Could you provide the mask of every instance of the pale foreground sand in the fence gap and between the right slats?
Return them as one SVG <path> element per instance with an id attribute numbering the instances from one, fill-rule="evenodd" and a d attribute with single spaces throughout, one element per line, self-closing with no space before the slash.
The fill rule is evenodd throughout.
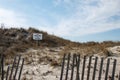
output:
<path id="1" fill-rule="evenodd" d="M 112 50 L 112 49 L 113 48 L 111 48 L 110 50 Z M 26 53 L 22 53 L 22 55 L 23 55 L 23 57 L 25 58 L 26 61 L 25 61 L 25 65 L 23 67 L 21 80 L 59 80 L 60 79 L 60 73 L 61 73 L 61 66 L 57 66 L 57 67 L 51 66 L 49 59 L 58 60 L 60 58 L 60 55 L 58 53 L 61 50 L 62 50 L 61 48 L 51 48 L 51 49 L 45 48 L 45 49 L 39 49 L 39 50 L 30 49 Z M 117 47 L 116 50 L 119 51 L 118 47 Z M 115 49 L 113 51 L 115 52 Z M 95 80 L 98 80 L 100 60 L 101 60 L 100 58 L 101 57 L 99 55 L 95 55 L 95 56 L 99 57 L 98 58 L 97 69 L 96 69 L 96 77 L 95 77 Z M 111 56 L 111 57 L 107 57 L 107 58 L 110 58 L 110 62 L 111 62 L 110 63 L 110 68 L 109 68 L 109 73 L 108 73 L 108 78 L 112 74 L 113 61 L 114 61 L 114 59 L 117 59 L 115 80 L 118 80 L 118 74 L 119 74 L 119 71 L 120 71 L 120 68 L 119 68 L 120 57 Z M 104 80 L 104 78 L 105 78 L 107 58 L 104 59 L 104 65 L 103 65 L 102 77 L 101 77 L 102 79 L 101 80 Z M 41 60 L 41 59 L 44 60 L 44 61 L 40 62 L 39 60 Z M 48 59 L 48 60 L 46 60 L 46 59 Z M 92 80 L 94 61 L 95 60 L 93 58 L 89 80 Z M 79 70 L 80 78 L 81 78 L 81 74 L 82 74 L 82 65 L 83 65 L 82 63 L 83 63 L 83 59 L 81 59 L 80 70 Z M 87 57 L 84 80 L 86 80 L 86 77 L 87 77 L 88 63 L 89 63 L 89 60 L 88 60 L 88 57 Z M 73 80 L 75 80 L 75 77 L 76 77 L 75 73 L 76 73 L 76 69 L 75 69 L 75 72 L 74 72 L 74 79 Z M 70 75 L 71 75 L 71 68 L 69 70 L 68 80 L 70 80 Z M 63 80 L 64 80 L 64 78 L 65 78 L 65 73 L 64 73 Z"/>

